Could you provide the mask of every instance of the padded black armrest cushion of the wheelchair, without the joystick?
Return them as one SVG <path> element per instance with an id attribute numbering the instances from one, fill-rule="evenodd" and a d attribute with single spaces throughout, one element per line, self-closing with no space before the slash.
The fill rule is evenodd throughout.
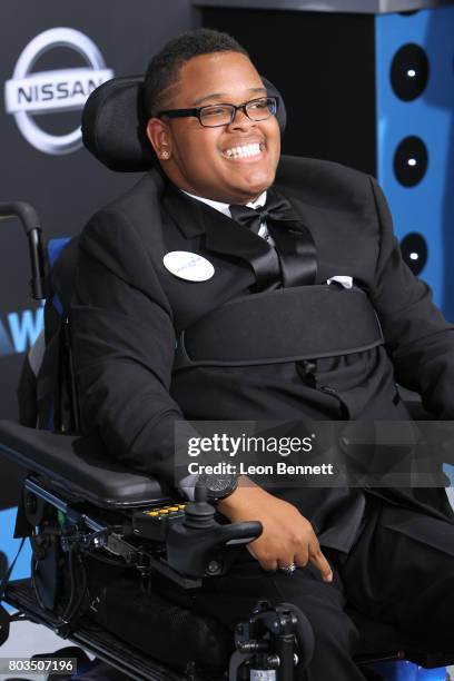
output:
<path id="1" fill-rule="evenodd" d="M 56 435 L 0 421 L 0 452 L 60 490 L 101 509 L 168 500 L 160 483 L 117 463 L 95 435 Z"/>

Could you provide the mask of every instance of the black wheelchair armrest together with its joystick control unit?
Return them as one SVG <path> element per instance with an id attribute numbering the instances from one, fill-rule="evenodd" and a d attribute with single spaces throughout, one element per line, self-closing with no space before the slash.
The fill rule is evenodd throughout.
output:
<path id="1" fill-rule="evenodd" d="M 95 435 L 56 435 L 0 421 L 0 453 L 34 474 L 38 480 L 29 476 L 26 487 L 28 485 L 29 491 L 51 505 L 59 507 L 56 500 L 61 501 L 59 497 L 69 496 L 71 504 L 77 502 L 87 506 L 87 503 L 91 503 L 98 509 L 110 511 L 134 509 L 135 512 L 128 514 L 129 522 L 119 531 L 109 529 L 106 519 L 100 525 L 97 516 L 90 516 L 90 511 L 81 513 L 72 507 L 68 517 L 69 522 L 87 525 L 88 534 L 91 534 L 96 523 L 99 532 L 103 533 L 102 540 L 98 537 L 99 545 L 103 546 L 102 542 L 107 541 L 107 547 L 116 555 L 125 557 L 128 564 L 131 563 L 137 549 L 130 544 L 130 536 L 165 544 L 167 561 L 161 555 L 155 556 L 150 550 L 147 553 L 149 566 L 182 585 L 190 582 L 189 585 L 194 586 L 194 579 L 206 574 L 210 561 L 213 564 L 209 574 L 221 573 L 228 566 L 235 550 L 253 541 L 261 532 L 259 523 L 220 525 L 214 520 L 215 509 L 201 499 L 189 504 L 188 517 L 186 510 L 181 515 L 178 509 L 172 509 L 176 513 L 168 516 L 168 523 L 164 522 L 159 515 L 160 511 L 156 509 L 161 504 L 168 506 L 171 500 L 168 492 L 164 491 L 155 478 L 131 472 L 112 461 Z M 50 495 L 53 492 L 53 499 L 49 492 Z M 197 497 L 200 493 L 197 491 Z M 154 506 L 154 513 L 149 513 L 147 506 Z M 168 513 L 168 509 L 161 513 Z M 167 515 L 164 517 L 167 519 Z M 185 522 L 181 522 L 182 517 Z M 32 524 L 37 524 L 34 520 Z M 88 535 L 82 534 L 79 527 L 75 536 L 75 541 L 83 544 Z M 224 559 L 226 549 L 231 551 L 227 551 L 228 556 Z M 142 561 L 144 550 L 140 549 L 138 553 Z M 213 556 L 217 559 L 216 570 Z M 142 564 L 141 569 L 144 570 Z"/>

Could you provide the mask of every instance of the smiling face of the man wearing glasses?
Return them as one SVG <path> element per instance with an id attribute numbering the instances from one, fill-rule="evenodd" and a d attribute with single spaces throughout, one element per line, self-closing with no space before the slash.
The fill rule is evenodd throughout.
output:
<path id="1" fill-rule="evenodd" d="M 168 95 L 166 109 L 189 109 L 240 105 L 266 89 L 245 55 L 213 52 L 187 61 Z M 234 122 L 218 128 L 205 128 L 196 117 L 151 118 L 147 134 L 168 178 L 189 194 L 247 204 L 274 181 L 280 155 L 274 116 L 253 121 L 237 111 Z"/>

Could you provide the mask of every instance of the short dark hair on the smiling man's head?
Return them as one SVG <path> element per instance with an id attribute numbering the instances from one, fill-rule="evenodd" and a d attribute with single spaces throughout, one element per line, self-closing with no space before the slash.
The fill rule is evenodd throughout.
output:
<path id="1" fill-rule="evenodd" d="M 155 55 L 145 75 L 144 103 L 147 116 L 156 116 L 162 110 L 162 93 L 177 80 L 180 68 L 189 59 L 211 52 L 240 52 L 249 57 L 235 38 L 206 28 L 174 38 Z"/>

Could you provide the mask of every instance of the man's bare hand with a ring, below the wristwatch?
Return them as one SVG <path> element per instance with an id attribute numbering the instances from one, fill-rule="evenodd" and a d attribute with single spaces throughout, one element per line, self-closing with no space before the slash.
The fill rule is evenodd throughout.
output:
<path id="1" fill-rule="evenodd" d="M 237 490 L 219 502 L 218 510 L 233 523 L 260 521 L 264 531 L 247 549 L 264 570 L 277 570 L 295 563 L 310 562 L 324 582 L 333 571 L 324 556 L 309 521 L 295 506 L 273 496 L 251 481 L 240 478 Z"/>

